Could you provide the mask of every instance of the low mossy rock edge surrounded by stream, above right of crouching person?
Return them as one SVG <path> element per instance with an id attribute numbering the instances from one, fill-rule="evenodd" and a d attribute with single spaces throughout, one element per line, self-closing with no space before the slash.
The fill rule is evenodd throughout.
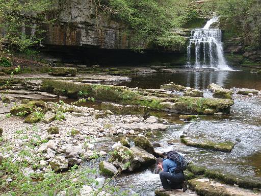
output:
<path id="1" fill-rule="evenodd" d="M 188 146 L 193 146 L 202 149 L 209 149 L 214 151 L 222 151 L 227 153 L 230 153 L 234 148 L 234 143 L 231 141 L 213 142 L 207 139 L 194 141 L 192 138 L 185 137 L 184 135 L 180 136 L 180 141 Z"/>

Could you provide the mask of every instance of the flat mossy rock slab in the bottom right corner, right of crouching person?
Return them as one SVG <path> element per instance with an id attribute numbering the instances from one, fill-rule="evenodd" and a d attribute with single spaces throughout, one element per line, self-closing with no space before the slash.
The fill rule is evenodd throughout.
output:
<path id="1" fill-rule="evenodd" d="M 207 178 L 192 179 L 188 181 L 188 185 L 192 190 L 195 190 L 199 195 L 216 196 L 216 195 L 231 195 L 231 196 L 256 196 L 261 195 L 260 192 L 253 192 L 249 189 L 239 188 L 232 185 L 221 184 L 218 181 Z"/>

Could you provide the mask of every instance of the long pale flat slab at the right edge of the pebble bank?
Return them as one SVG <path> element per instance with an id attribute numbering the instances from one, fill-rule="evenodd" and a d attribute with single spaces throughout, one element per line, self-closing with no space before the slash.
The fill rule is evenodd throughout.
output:
<path id="1" fill-rule="evenodd" d="M 168 125 L 163 125 L 159 123 L 153 124 L 145 124 L 143 122 L 124 124 L 119 123 L 119 127 L 122 127 L 125 130 L 134 130 L 134 131 L 166 131 L 168 129 Z"/>

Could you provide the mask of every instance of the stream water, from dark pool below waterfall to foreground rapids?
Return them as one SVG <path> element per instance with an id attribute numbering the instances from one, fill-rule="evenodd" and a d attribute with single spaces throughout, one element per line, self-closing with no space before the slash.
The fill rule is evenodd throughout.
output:
<path id="1" fill-rule="evenodd" d="M 132 79 L 120 85 L 160 88 L 161 84 L 174 82 L 203 90 L 204 97 L 212 96 L 211 92 L 206 91 L 210 83 L 219 84 L 224 88 L 261 89 L 261 76 L 250 74 L 249 70 L 137 75 Z M 155 137 L 149 139 L 161 144 L 161 147 L 156 148 L 157 150 L 166 152 L 175 149 L 199 166 L 261 180 L 261 102 L 255 97 L 237 97 L 234 103 L 230 115 L 204 116 L 191 123 L 179 120 L 177 114 L 152 112 L 151 115 L 167 119 L 171 127 L 166 132 L 154 132 Z M 201 137 L 215 138 L 215 140 L 225 138 L 237 144 L 231 153 L 189 147 L 179 140 L 179 136 L 188 130 Z M 117 138 L 114 140 L 118 141 Z M 161 187 L 161 182 L 159 175 L 153 174 L 152 171 L 153 168 L 121 175 L 114 180 L 113 185 L 144 196 L 154 195 L 154 190 Z"/>

